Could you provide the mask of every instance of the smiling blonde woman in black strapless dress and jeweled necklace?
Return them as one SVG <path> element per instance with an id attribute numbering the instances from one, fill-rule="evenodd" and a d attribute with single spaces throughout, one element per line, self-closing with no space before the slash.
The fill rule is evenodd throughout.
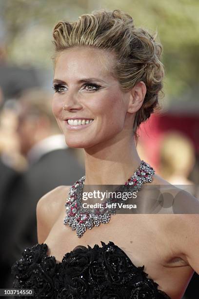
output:
<path id="1" fill-rule="evenodd" d="M 13 287 L 33 288 L 35 298 L 179 299 L 199 272 L 198 215 L 95 210 L 94 219 L 80 198 L 86 185 L 168 185 L 136 150 L 162 89 L 161 45 L 119 10 L 60 21 L 53 36 L 52 109 L 66 144 L 84 149 L 85 177 L 40 199 L 39 244 L 13 265 Z"/>

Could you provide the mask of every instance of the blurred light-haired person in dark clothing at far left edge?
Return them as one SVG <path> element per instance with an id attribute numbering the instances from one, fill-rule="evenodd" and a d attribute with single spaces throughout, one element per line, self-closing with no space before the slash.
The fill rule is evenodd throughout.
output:
<path id="1" fill-rule="evenodd" d="M 0 288 L 5 286 L 6 278 L 10 275 L 10 256 L 11 243 L 8 242 L 9 231 L 5 230 L 3 222 L 7 211 L 10 211 L 10 191 L 17 184 L 20 178 L 20 171 L 26 166 L 25 159 L 19 152 L 19 139 L 16 134 L 17 116 L 16 111 L 4 104 L 0 110 Z M 12 204 L 12 209 L 17 211 L 17 207 Z M 15 221 L 16 213 L 13 213 L 12 219 Z M 7 229 L 9 230 L 9 225 Z M 19 236 L 20 223 L 15 229 L 12 242 Z M 8 245 L 8 246 L 7 246 Z M 13 257 L 14 258 L 14 257 Z M 8 285 L 9 286 L 9 285 Z"/>

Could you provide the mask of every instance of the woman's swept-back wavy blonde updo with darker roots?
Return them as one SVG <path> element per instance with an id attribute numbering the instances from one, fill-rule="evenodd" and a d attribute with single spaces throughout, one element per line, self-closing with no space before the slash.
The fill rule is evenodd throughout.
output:
<path id="1" fill-rule="evenodd" d="M 155 108 L 159 108 L 164 76 L 160 62 L 162 46 L 143 28 L 136 28 L 133 19 L 120 10 L 113 12 L 101 9 L 82 15 L 77 21 L 60 21 L 53 29 L 53 43 L 58 53 L 73 46 L 92 46 L 106 49 L 117 57 L 114 74 L 121 89 L 129 90 L 137 82 L 146 85 L 142 107 L 137 111 L 133 131 L 147 120 Z M 54 58 L 55 58 L 54 57 Z"/>

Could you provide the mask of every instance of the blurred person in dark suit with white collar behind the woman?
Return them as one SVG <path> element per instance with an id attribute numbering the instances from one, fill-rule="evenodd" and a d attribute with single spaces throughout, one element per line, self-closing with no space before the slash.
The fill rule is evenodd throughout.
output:
<path id="1" fill-rule="evenodd" d="M 71 184 L 84 173 L 80 151 L 68 148 L 60 134 L 51 98 L 41 89 L 30 89 L 18 100 L 16 133 L 27 169 L 10 185 L 0 219 L 5 269 L 1 287 L 10 286 L 10 266 L 21 249 L 37 242 L 36 205 L 40 197 L 52 188 Z"/>

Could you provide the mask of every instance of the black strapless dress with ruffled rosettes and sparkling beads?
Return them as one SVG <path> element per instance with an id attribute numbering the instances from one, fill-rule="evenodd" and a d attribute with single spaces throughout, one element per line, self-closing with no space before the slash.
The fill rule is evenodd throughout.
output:
<path id="1" fill-rule="evenodd" d="M 13 288 L 34 289 L 37 299 L 170 299 L 144 265 L 136 267 L 111 241 L 101 244 L 77 246 L 59 263 L 45 243 L 26 248 L 11 269 Z"/>

